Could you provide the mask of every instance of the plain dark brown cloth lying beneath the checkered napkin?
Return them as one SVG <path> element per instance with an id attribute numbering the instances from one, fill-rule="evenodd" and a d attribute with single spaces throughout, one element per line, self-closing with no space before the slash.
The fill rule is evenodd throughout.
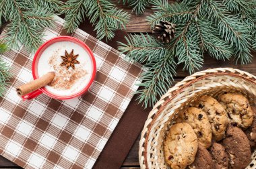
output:
<path id="1" fill-rule="evenodd" d="M 88 20 L 84 21 L 79 28 L 96 37 L 96 32 L 93 31 L 94 27 L 92 27 Z M 117 49 L 117 42 L 125 43 L 125 36 L 127 36 L 126 32 L 118 30 L 113 40 L 108 42 L 106 40 L 102 41 Z M 95 169 L 115 169 L 122 166 L 151 110 L 150 108 L 143 109 L 142 105 L 138 105 L 135 99 L 136 95 L 131 100 L 115 131 L 110 136 L 110 139 L 108 139 L 106 146 L 94 164 Z"/>

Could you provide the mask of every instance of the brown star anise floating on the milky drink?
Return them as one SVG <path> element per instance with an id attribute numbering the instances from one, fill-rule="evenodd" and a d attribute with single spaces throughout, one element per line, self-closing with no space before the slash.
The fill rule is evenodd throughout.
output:
<path id="1" fill-rule="evenodd" d="M 74 50 L 72 49 L 71 53 L 68 54 L 67 50 L 65 50 L 65 56 L 61 56 L 61 58 L 63 59 L 63 62 L 61 63 L 61 66 L 65 65 L 67 69 L 69 69 L 69 67 L 71 66 L 74 69 L 75 64 L 80 63 L 78 60 L 76 60 L 76 58 L 78 57 L 78 54 L 76 54 L 74 56 L 73 52 L 74 52 Z"/>

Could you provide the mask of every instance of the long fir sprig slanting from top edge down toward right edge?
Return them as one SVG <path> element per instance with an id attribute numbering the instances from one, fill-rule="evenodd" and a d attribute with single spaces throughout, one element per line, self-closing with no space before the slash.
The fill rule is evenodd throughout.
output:
<path id="1" fill-rule="evenodd" d="M 233 46 L 236 62 L 239 60 L 242 64 L 248 64 L 252 60 L 251 50 L 251 34 L 249 27 L 234 16 L 225 15 L 224 5 L 215 1 L 205 3 L 208 13 L 218 23 L 217 28 L 220 36 Z"/>

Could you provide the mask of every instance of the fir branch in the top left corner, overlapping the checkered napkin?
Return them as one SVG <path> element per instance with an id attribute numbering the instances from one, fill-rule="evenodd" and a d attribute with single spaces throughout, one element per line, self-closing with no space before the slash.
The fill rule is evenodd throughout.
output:
<path id="1" fill-rule="evenodd" d="M 24 45 L 30 52 L 36 51 L 42 44 L 44 29 L 53 23 L 59 4 L 57 0 L 0 1 L 0 17 L 10 22 L 6 27 L 7 45 L 10 48 Z"/>

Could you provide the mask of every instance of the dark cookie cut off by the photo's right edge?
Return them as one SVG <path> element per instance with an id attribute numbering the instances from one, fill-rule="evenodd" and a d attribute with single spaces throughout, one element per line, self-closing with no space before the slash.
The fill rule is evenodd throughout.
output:
<path id="1" fill-rule="evenodd" d="M 251 107 L 253 110 L 253 123 L 251 126 L 245 131 L 247 138 L 249 139 L 249 144 L 251 149 L 256 148 L 256 107 Z"/>

